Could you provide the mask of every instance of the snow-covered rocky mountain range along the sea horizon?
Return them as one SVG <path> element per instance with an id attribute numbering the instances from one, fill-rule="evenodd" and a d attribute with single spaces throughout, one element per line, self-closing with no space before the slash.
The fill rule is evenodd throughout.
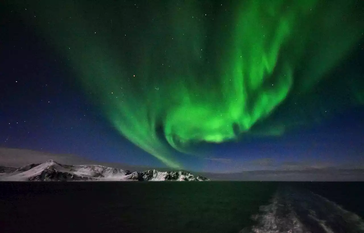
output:
<path id="1" fill-rule="evenodd" d="M 53 160 L 3 169 L 1 181 L 205 181 L 187 171 L 130 172 L 100 165 L 62 165 Z"/>

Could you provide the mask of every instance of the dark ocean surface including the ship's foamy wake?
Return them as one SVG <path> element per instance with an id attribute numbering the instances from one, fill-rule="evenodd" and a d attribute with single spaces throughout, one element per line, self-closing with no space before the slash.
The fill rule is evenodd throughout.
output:
<path id="1" fill-rule="evenodd" d="M 0 182 L 0 232 L 359 233 L 363 182 Z"/>

